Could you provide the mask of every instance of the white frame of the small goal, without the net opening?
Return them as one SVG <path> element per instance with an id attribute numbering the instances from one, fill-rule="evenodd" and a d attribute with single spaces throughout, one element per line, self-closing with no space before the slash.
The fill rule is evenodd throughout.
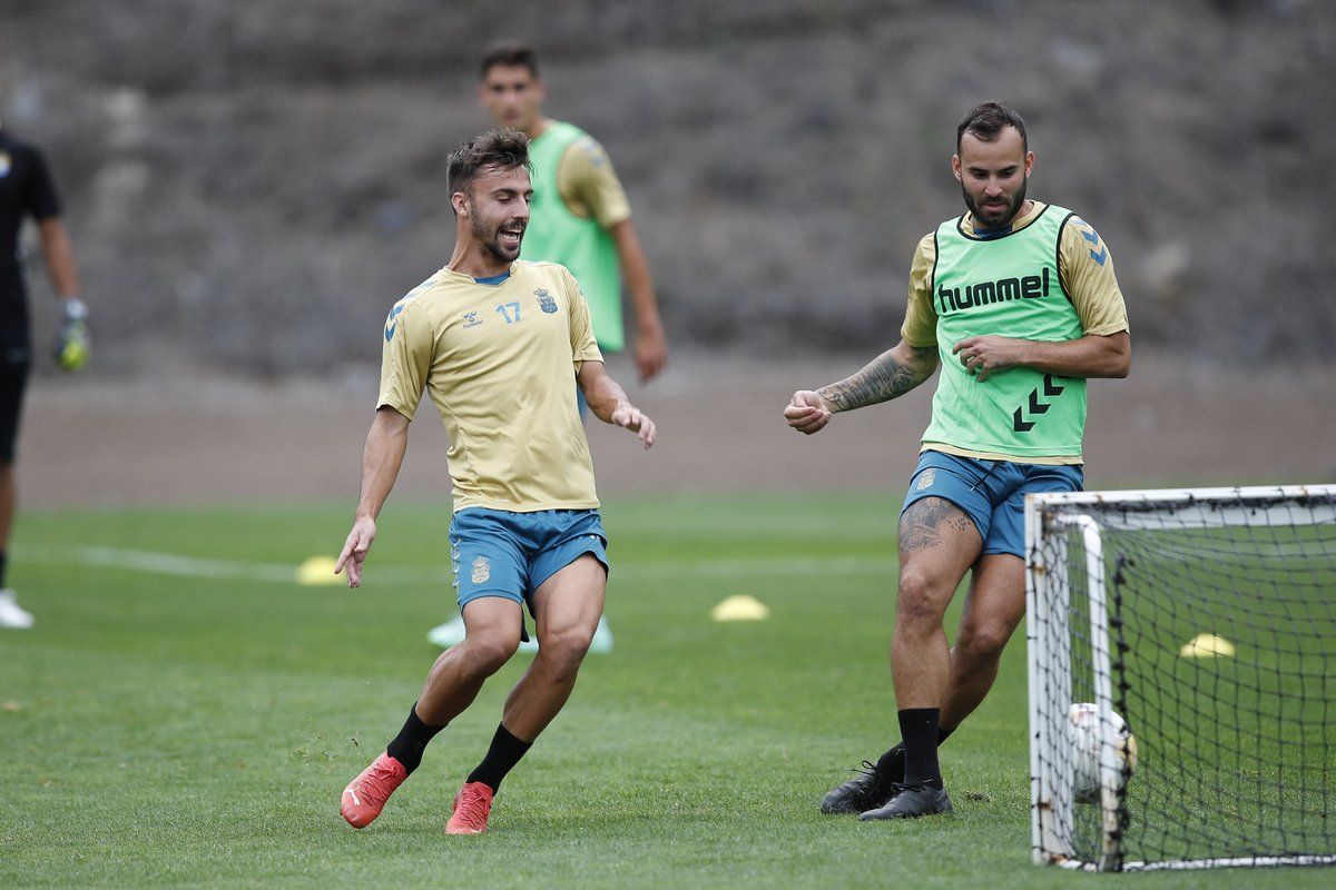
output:
<path id="1" fill-rule="evenodd" d="M 1086 590 L 1089 595 L 1089 623 L 1092 667 L 1094 669 L 1094 705 L 1100 714 L 1113 710 L 1113 677 L 1110 669 L 1110 639 L 1108 615 L 1108 574 L 1104 562 L 1102 528 L 1097 519 L 1100 510 L 1116 508 L 1124 527 L 1157 527 L 1150 519 L 1157 510 L 1172 508 L 1180 528 L 1213 528 L 1238 524 L 1242 520 L 1265 519 L 1271 511 L 1285 510 L 1284 519 L 1293 524 L 1296 516 L 1289 507 L 1304 500 L 1317 500 L 1304 524 L 1336 523 L 1336 486 L 1257 486 L 1234 488 L 1140 488 L 1124 491 L 1075 491 L 1031 494 L 1025 498 L 1025 598 L 1026 598 L 1026 662 L 1030 693 L 1030 821 L 1031 847 L 1037 865 L 1059 865 L 1086 871 L 1149 871 L 1180 869 L 1210 869 L 1225 866 L 1287 866 L 1336 865 L 1336 855 L 1280 855 L 1245 858 L 1202 858 L 1165 862 L 1125 862 L 1122 835 L 1118 825 L 1118 797 L 1121 769 L 1117 753 L 1118 739 L 1108 719 L 1100 726 L 1100 853 L 1096 861 L 1082 859 L 1069 839 L 1073 837 L 1074 803 L 1069 777 L 1059 777 L 1053 758 L 1042 753 L 1055 745 L 1065 745 L 1066 707 L 1049 709 L 1045 715 L 1045 679 L 1049 699 L 1070 702 L 1071 652 L 1070 643 L 1059 643 L 1059 651 L 1049 651 L 1046 632 L 1041 627 L 1058 623 L 1053 634 L 1059 640 L 1070 640 L 1066 622 L 1070 616 L 1071 587 L 1066 560 L 1049 566 L 1041 542 L 1050 528 L 1058 534 L 1074 527 L 1081 534 L 1085 548 Z M 1063 508 L 1061 512 L 1058 508 Z M 1082 511 L 1081 507 L 1090 510 Z M 1073 510 L 1074 508 L 1074 510 Z M 1065 651 L 1061 651 L 1063 650 Z M 1057 690 L 1053 691 L 1053 677 Z"/>

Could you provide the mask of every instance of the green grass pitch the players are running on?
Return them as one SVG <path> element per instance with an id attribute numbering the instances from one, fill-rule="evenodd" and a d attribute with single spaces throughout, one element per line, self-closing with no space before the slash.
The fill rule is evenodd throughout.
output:
<path id="1" fill-rule="evenodd" d="M 895 735 L 895 510 L 891 495 L 608 504 L 616 650 L 591 655 L 476 838 L 442 829 L 524 655 L 375 825 L 338 815 L 436 656 L 426 630 L 454 611 L 444 510 L 391 503 L 357 592 L 285 568 L 331 555 L 349 507 L 24 515 L 11 580 L 39 624 L 0 634 L 0 886 L 1329 886 L 1329 869 L 1033 866 L 1019 638 L 943 747 L 954 817 L 819 815 Z M 164 574 L 187 568 L 212 576 Z M 711 622 L 732 594 L 771 618 Z"/>

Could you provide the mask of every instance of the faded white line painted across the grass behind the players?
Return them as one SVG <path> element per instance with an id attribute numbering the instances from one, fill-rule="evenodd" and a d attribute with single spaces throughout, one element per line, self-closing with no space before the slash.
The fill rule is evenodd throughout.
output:
<path id="1" fill-rule="evenodd" d="M 297 583 L 297 566 L 282 563 L 242 562 L 235 559 L 207 559 L 182 556 L 151 550 L 130 550 L 123 547 L 55 547 L 49 544 L 21 544 L 15 548 L 19 559 L 43 563 L 73 563 L 96 568 L 122 568 L 154 575 L 175 575 L 178 578 L 207 578 L 211 580 L 266 580 L 277 583 Z M 898 562 L 894 556 L 835 556 L 819 559 L 796 558 L 752 558 L 752 559 L 693 559 L 683 562 L 613 562 L 616 578 L 661 579 L 680 575 L 705 575 L 711 578 L 749 578 L 755 575 L 858 575 L 894 572 Z M 426 584 L 449 583 L 446 568 L 406 568 L 369 564 L 367 586 L 374 584 Z"/>

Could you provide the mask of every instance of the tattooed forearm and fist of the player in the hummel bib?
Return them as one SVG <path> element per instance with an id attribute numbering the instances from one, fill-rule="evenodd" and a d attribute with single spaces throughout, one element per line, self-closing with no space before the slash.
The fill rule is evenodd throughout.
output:
<path id="1" fill-rule="evenodd" d="M 784 419 L 799 432 L 811 435 L 830 423 L 838 411 L 852 411 L 899 398 L 933 376 L 935 370 L 935 346 L 910 346 L 900 340 L 895 348 L 876 356 L 862 371 L 839 383 L 823 386 L 815 392 L 795 392 L 784 408 Z"/>

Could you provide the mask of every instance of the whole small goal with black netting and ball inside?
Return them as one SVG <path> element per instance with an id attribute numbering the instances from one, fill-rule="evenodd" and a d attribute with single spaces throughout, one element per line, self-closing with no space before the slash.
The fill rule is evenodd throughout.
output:
<path id="1" fill-rule="evenodd" d="M 1336 863 L 1336 486 L 1026 499 L 1035 862 Z"/>

